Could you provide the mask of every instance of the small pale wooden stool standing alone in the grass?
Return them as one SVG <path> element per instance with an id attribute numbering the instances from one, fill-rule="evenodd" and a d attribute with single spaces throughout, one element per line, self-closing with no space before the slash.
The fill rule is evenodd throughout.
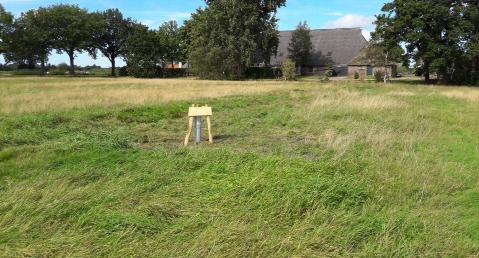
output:
<path id="1" fill-rule="evenodd" d="M 188 142 L 190 141 L 193 124 L 196 129 L 195 142 L 196 144 L 201 142 L 201 118 L 204 116 L 206 117 L 208 124 L 208 139 L 210 144 L 213 143 L 213 134 L 211 133 L 211 117 L 213 116 L 213 109 L 208 107 L 208 105 L 200 107 L 200 105 L 193 104 L 188 110 L 188 132 L 186 133 L 185 137 L 185 146 L 188 146 Z"/>

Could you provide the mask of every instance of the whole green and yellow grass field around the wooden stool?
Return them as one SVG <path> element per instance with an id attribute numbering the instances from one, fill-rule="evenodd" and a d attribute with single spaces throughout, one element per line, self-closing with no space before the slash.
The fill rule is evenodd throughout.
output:
<path id="1" fill-rule="evenodd" d="M 479 89 L 0 78 L 0 256 L 479 256 L 478 214 Z"/>

